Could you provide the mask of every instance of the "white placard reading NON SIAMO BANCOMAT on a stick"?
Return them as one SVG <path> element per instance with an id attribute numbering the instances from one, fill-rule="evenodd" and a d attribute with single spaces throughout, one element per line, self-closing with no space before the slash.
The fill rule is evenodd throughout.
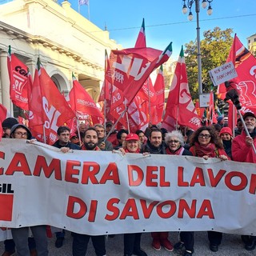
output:
<path id="1" fill-rule="evenodd" d="M 214 83 L 214 86 L 218 86 L 221 83 L 229 81 L 238 76 L 233 62 L 226 62 L 222 66 L 218 66 L 213 70 L 210 70 L 209 74 L 211 81 Z"/>

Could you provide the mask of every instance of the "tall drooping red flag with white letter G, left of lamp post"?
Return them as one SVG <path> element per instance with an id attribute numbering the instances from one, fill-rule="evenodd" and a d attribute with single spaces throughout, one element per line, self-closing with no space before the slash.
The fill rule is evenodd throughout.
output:
<path id="1" fill-rule="evenodd" d="M 175 130 L 176 124 L 197 130 L 201 126 L 200 119 L 192 101 L 186 75 L 186 63 L 183 47 L 174 71 L 174 78 L 166 103 L 166 114 L 162 127 Z"/>

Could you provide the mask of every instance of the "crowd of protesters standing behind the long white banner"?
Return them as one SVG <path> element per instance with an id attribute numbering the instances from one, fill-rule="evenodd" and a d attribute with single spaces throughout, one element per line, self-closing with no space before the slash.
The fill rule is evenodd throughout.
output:
<path id="1" fill-rule="evenodd" d="M 238 119 L 234 132 L 227 127 L 226 118 L 218 118 L 218 124 L 202 126 L 198 130 L 190 130 L 188 127 L 178 127 L 177 130 L 168 131 L 158 126 L 151 125 L 145 130 L 137 130 L 129 133 L 126 129 L 115 130 L 114 124 L 106 122 L 106 126 L 97 124 L 88 127 L 84 123 L 79 126 L 77 133 L 70 133 L 67 126 L 58 127 L 58 141 L 54 145 L 63 153 L 69 150 L 103 150 L 135 154 L 170 154 L 190 155 L 204 159 L 220 158 L 222 161 L 238 161 L 256 163 L 256 154 L 253 145 L 256 146 L 256 116 L 252 112 L 243 115 L 245 127 L 242 120 Z M 2 138 L 18 138 L 31 140 L 28 127 L 18 124 L 15 118 L 6 118 L 2 122 Z M 249 134 L 246 134 L 245 129 Z M 32 141 L 33 142 L 33 139 Z M 29 238 L 29 228 L 33 238 Z M 6 240 L 5 251 L 2 256 L 48 255 L 46 226 L 30 226 L 11 229 L 13 239 Z M 152 232 L 152 247 L 159 251 L 162 248 L 168 251 L 184 250 L 184 256 L 194 254 L 194 232 L 182 231 L 180 241 L 172 244 L 168 237 L 169 232 Z M 142 234 L 124 234 L 123 255 L 146 256 L 141 249 L 140 241 Z M 105 236 L 91 236 L 87 234 L 72 234 L 74 256 L 85 256 L 87 244 L 91 239 L 95 254 L 104 256 L 107 254 Z M 222 242 L 222 233 L 208 231 L 210 250 L 218 251 Z M 56 247 L 62 247 L 65 239 L 64 230 L 56 233 Z M 256 246 L 255 236 L 242 236 L 246 250 L 254 250 Z"/>

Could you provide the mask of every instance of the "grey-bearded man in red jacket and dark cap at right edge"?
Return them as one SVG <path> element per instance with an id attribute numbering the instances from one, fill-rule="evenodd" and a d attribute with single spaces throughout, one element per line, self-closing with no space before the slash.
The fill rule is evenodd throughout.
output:
<path id="1" fill-rule="evenodd" d="M 247 136 L 245 130 L 242 130 L 242 133 L 234 138 L 231 146 L 232 157 L 234 161 L 256 163 L 256 154 L 254 152 L 256 147 L 256 116 L 253 112 L 246 112 L 242 118 L 246 123 L 250 136 Z M 255 249 L 256 236 L 242 236 L 242 240 L 246 243 L 246 250 Z"/>

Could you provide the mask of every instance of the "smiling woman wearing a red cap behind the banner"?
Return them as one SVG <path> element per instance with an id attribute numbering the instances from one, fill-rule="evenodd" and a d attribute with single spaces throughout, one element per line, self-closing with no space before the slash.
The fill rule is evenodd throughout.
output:
<path id="1" fill-rule="evenodd" d="M 141 142 L 137 134 L 128 134 L 125 141 L 122 142 L 122 148 L 119 150 L 122 154 L 139 153 Z M 142 233 L 124 234 L 124 255 L 147 256 L 146 252 L 141 250 Z"/>

